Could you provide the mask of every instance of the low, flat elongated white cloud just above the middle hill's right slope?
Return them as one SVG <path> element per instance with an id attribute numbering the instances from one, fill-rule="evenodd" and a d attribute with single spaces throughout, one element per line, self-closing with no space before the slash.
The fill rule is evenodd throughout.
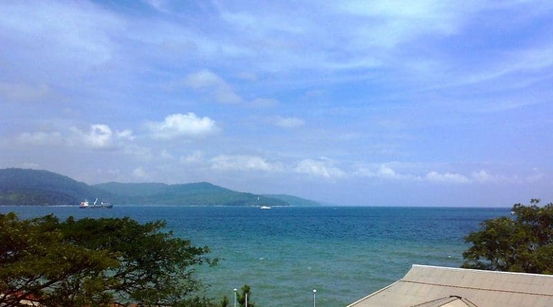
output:
<path id="1" fill-rule="evenodd" d="M 211 161 L 214 170 L 263 170 L 267 172 L 282 170 L 279 162 L 250 155 L 218 155 Z"/>

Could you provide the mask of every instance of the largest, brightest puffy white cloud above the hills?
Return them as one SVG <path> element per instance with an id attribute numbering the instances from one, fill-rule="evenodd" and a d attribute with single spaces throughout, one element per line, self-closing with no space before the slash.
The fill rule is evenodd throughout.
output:
<path id="1" fill-rule="evenodd" d="M 162 122 L 146 124 L 152 137 L 156 139 L 176 139 L 178 137 L 204 137 L 218 132 L 218 127 L 209 117 L 197 117 L 194 113 L 172 114 Z"/>

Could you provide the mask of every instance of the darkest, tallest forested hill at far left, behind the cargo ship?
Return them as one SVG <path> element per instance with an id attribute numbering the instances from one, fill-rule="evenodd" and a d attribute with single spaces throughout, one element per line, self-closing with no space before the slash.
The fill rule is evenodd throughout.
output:
<path id="1" fill-rule="evenodd" d="M 0 170 L 0 205 L 78 205 L 95 196 L 111 195 L 47 170 Z"/>

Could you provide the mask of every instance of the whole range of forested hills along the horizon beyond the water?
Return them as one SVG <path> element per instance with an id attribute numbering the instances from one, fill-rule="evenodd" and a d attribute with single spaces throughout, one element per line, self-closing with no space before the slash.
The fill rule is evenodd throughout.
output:
<path id="1" fill-rule="evenodd" d="M 111 204 L 186 206 L 317 206 L 318 203 L 290 195 L 255 195 L 221 186 L 196 184 L 122 184 L 109 182 L 88 186 L 47 170 L 0 169 L 0 206 L 78 205 L 100 197 Z"/>

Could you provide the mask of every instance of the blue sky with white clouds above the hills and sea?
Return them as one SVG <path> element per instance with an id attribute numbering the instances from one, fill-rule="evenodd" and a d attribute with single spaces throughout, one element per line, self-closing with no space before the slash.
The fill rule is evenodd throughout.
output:
<path id="1" fill-rule="evenodd" d="M 553 201 L 553 1 L 1 1 L 0 168 Z"/>

